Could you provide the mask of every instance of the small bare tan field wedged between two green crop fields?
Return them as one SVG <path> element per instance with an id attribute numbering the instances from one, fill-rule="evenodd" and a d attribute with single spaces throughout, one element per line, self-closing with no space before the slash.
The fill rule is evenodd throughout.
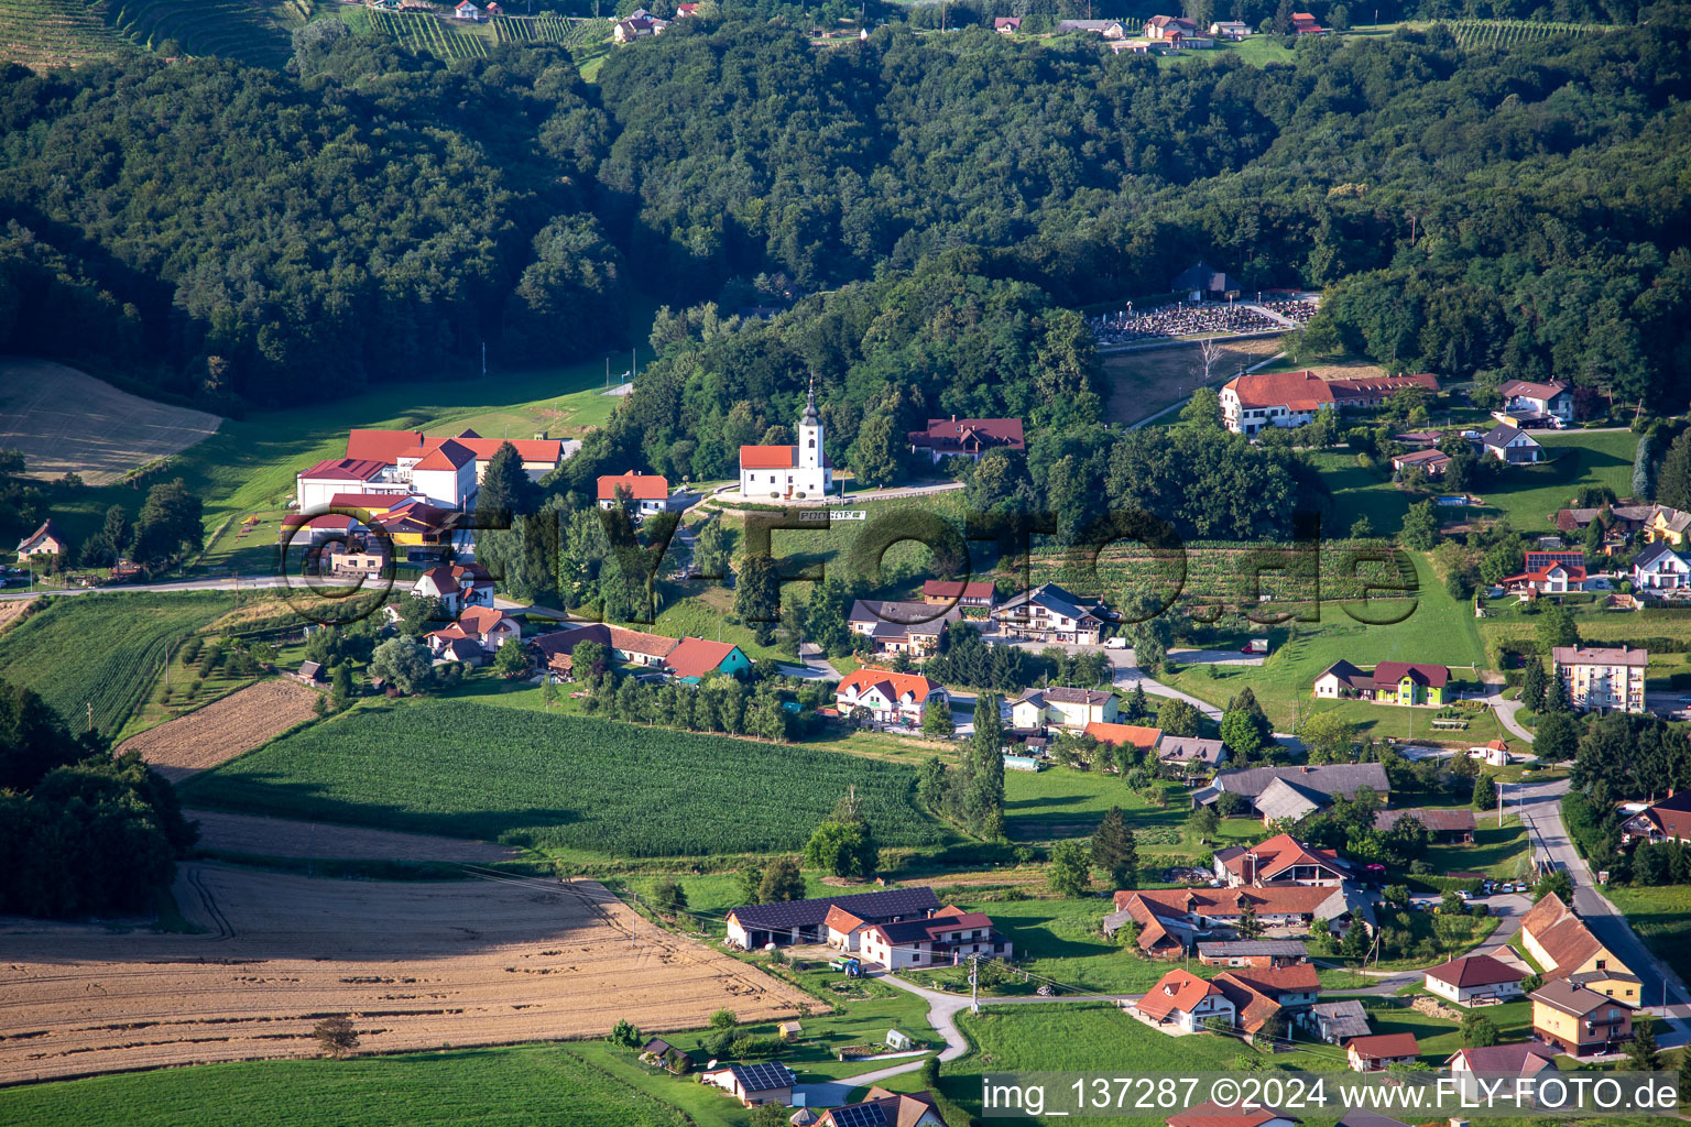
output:
<path id="1" fill-rule="evenodd" d="M 205 708 L 123 740 L 161 776 L 183 779 L 262 747 L 311 720 L 318 693 L 298 681 L 259 681 Z"/>

